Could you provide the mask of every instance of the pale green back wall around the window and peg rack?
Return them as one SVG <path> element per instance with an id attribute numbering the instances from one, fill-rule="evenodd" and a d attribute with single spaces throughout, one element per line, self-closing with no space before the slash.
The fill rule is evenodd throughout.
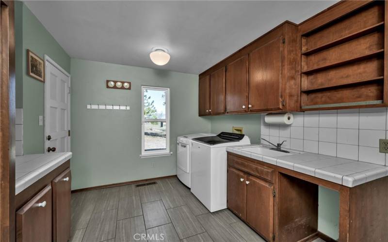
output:
<path id="1" fill-rule="evenodd" d="M 131 90 L 107 89 L 107 79 L 130 81 Z M 170 88 L 171 156 L 139 157 L 142 85 Z M 129 105 L 130 111 L 88 104 Z M 177 136 L 210 132 L 197 104 L 197 75 L 71 59 L 72 189 L 176 174 Z"/>

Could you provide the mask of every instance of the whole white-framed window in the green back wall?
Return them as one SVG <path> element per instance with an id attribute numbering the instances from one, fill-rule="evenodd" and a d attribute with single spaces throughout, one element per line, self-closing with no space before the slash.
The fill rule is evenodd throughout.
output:
<path id="1" fill-rule="evenodd" d="M 170 89 L 142 87 L 141 157 L 170 155 Z"/>

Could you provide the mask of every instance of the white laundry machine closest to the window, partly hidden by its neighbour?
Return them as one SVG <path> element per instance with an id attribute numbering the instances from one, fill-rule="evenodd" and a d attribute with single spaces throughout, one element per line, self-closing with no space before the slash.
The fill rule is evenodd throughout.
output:
<path id="1" fill-rule="evenodd" d="M 210 133 L 191 134 L 177 137 L 177 176 L 188 187 L 191 187 L 190 181 L 190 151 L 191 140 L 193 138 L 215 136 Z"/>

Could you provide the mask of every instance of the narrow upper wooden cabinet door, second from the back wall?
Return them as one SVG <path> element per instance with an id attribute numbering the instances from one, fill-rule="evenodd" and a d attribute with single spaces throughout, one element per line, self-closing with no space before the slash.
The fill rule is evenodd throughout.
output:
<path id="1" fill-rule="evenodd" d="M 210 74 L 210 114 L 225 113 L 225 67 Z"/>

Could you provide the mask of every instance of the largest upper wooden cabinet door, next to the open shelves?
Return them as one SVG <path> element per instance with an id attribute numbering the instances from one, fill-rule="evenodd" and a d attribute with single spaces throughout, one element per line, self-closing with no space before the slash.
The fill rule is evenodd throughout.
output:
<path id="1" fill-rule="evenodd" d="M 249 54 L 249 111 L 282 108 L 283 37 Z"/>

